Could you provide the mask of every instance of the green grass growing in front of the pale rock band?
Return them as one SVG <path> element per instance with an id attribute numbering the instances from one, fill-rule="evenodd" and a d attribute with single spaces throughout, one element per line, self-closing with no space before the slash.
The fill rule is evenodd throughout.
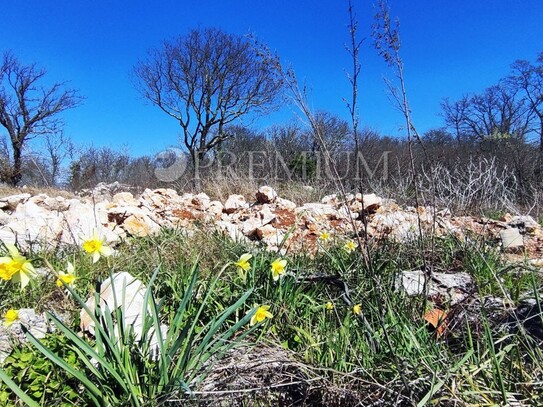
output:
<path id="1" fill-rule="evenodd" d="M 513 399 L 532 405 L 543 402 L 539 396 L 543 390 L 543 355 L 540 344 L 526 332 L 498 329 L 483 309 L 477 324 L 460 321 L 456 332 L 440 337 L 422 318 L 425 301 L 406 297 L 395 289 L 398 273 L 420 269 L 423 254 L 434 271 L 470 274 L 476 288 L 473 299 L 497 296 L 516 302 L 526 294 L 539 298 L 541 276 L 527 265 L 506 264 L 488 242 L 453 237 L 436 238 L 433 245 L 426 242 L 422 247 L 417 242 L 380 242 L 368 248 L 368 263 L 358 252 L 346 253 L 340 242 L 332 241 L 323 244 L 315 256 L 281 256 L 288 266 L 279 281 L 272 279 L 270 271 L 277 254 L 234 242 L 219 233 L 188 235 L 180 230 L 163 230 L 156 236 L 124 242 L 116 251 L 114 257 L 94 265 L 77 248 L 32 253 L 29 257 L 35 265 L 45 265 L 47 260 L 58 270 L 65 268 L 67 260 L 73 262 L 79 276 L 75 293 L 83 299 L 95 281 L 110 272 L 128 271 L 145 284 L 156 274 L 151 285 L 154 298 L 161 300 L 156 318 L 170 322 L 187 298 L 188 282 L 197 266 L 199 276 L 191 291 L 191 306 L 180 322 L 184 326 L 197 321 L 194 346 L 202 345 L 205 339 L 200 332 L 215 326 L 218 315 L 226 315 L 216 326 L 215 335 L 236 327 L 237 333 L 231 337 L 234 343 L 246 335 L 243 341 L 249 344 L 293 352 L 310 372 L 305 379 L 320 380 L 321 386 L 315 386 L 314 391 L 322 396 L 322 405 L 349 405 L 340 396 L 344 392 L 349 392 L 352 405 L 369 405 L 372 400 L 382 400 L 385 405 L 444 406 L 501 405 Z M 253 255 L 247 272 L 240 272 L 233 264 L 227 266 L 246 252 Z M 314 281 L 316 275 L 337 276 L 344 281 L 351 303 L 344 301 L 337 285 Z M 80 305 L 54 281 L 52 274 L 37 279 L 22 294 L 8 282 L 0 282 L 0 311 L 60 307 L 73 315 L 68 328 L 75 330 Z M 232 309 L 244 293 L 250 293 L 247 300 Z M 333 303 L 333 309 L 326 308 L 328 302 Z M 272 319 L 252 330 L 238 324 L 261 304 L 270 306 Z M 353 313 L 354 304 L 361 305 L 361 316 Z M 215 356 L 222 353 L 220 348 L 213 349 Z M 130 363 L 155 362 L 140 359 L 127 363 L 132 369 Z M 182 381 L 187 374 L 200 375 L 200 370 L 191 371 L 189 366 L 178 374 Z M 185 384 L 193 386 L 190 381 Z M 4 385 L 0 390 L 9 391 L 6 389 Z M 166 395 L 156 389 L 145 394 L 152 395 L 146 405 L 159 405 Z M 266 400 L 253 399 L 246 405 L 267 405 Z M 315 402 L 315 398 L 311 400 Z"/>

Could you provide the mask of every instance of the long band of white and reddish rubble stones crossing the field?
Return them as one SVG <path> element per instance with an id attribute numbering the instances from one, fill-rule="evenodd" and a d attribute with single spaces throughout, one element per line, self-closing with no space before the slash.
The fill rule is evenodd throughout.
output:
<path id="1" fill-rule="evenodd" d="M 112 193 L 100 186 L 87 196 L 65 198 L 22 193 L 0 198 L 0 239 L 20 247 L 80 244 L 93 229 L 115 244 L 130 236 L 146 236 L 163 227 L 223 231 L 234 239 L 261 242 L 269 250 L 314 250 L 323 232 L 332 239 L 353 239 L 367 230 L 368 239 L 399 241 L 423 233 L 484 237 L 509 252 L 543 265 L 543 229 L 530 216 L 505 215 L 500 220 L 452 216 L 431 207 L 400 207 L 374 194 L 324 197 L 296 205 L 263 186 L 247 200 L 231 195 L 225 202 L 206 194 L 179 195 L 172 189 Z M 364 228 L 364 221 L 367 228 Z M 362 232 L 359 232 L 362 235 Z"/>

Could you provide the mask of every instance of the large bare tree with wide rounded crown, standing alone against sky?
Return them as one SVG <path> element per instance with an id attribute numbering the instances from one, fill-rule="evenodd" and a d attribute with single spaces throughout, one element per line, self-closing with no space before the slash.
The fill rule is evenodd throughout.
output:
<path id="1" fill-rule="evenodd" d="M 135 67 L 143 97 L 183 129 L 195 174 L 205 154 L 228 138 L 228 123 L 273 106 L 282 81 L 270 55 L 249 38 L 208 28 L 165 41 Z"/>

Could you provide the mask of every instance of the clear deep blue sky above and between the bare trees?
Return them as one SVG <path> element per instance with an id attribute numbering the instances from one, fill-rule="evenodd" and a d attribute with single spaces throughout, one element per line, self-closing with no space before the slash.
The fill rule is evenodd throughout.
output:
<path id="1" fill-rule="evenodd" d="M 383 134 L 402 136 L 402 117 L 388 100 L 390 76 L 370 38 L 372 0 L 353 0 L 362 51 L 360 118 Z M 443 97 L 479 92 L 516 59 L 543 51 L 541 0 L 390 0 L 401 22 L 407 90 L 419 131 L 442 125 Z M 36 62 L 47 78 L 70 82 L 86 99 L 64 113 L 79 145 L 128 147 L 133 155 L 175 145 L 180 127 L 135 91 L 131 71 L 164 39 L 198 27 L 254 33 L 305 79 L 315 110 L 347 119 L 350 88 L 347 0 L 2 0 L 0 51 Z M 251 123 L 264 129 L 296 117 L 289 108 Z M 0 129 L 1 131 L 1 129 Z"/>

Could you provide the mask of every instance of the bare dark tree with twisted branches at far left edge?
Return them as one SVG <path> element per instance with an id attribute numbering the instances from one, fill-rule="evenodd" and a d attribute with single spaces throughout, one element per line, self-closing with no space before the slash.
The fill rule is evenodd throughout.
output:
<path id="1" fill-rule="evenodd" d="M 0 65 L 0 124 L 11 141 L 11 162 L 6 181 L 15 186 L 22 177 L 22 153 L 26 143 L 38 136 L 59 131 L 58 117 L 64 110 L 76 107 L 81 98 L 64 83 L 49 87 L 39 83 L 46 70 L 35 64 L 23 65 L 6 52 Z"/>

